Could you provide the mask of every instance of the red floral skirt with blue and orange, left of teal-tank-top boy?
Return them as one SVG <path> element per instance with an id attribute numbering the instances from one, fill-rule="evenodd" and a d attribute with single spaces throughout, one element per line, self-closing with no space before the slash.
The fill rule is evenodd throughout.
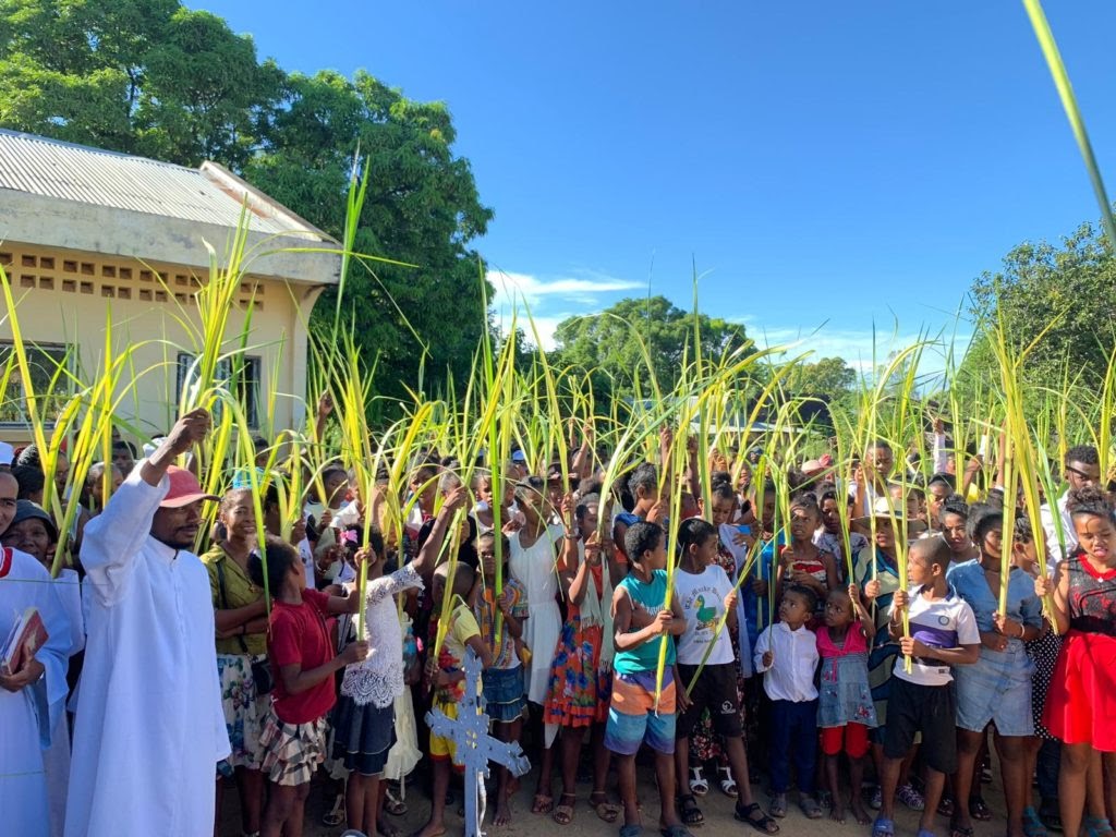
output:
<path id="1" fill-rule="evenodd" d="M 589 727 L 608 719 L 608 700 L 607 695 L 602 700 L 597 671 L 602 639 L 600 625 L 583 627 L 581 617 L 576 614 L 562 625 L 542 704 L 545 723 Z"/>

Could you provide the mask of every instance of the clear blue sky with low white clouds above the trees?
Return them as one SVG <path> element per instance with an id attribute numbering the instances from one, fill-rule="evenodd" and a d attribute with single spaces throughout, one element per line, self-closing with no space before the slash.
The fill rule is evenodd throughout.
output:
<path id="1" fill-rule="evenodd" d="M 1097 217 L 1018 0 L 187 2 L 288 70 L 448 103 L 479 249 L 545 331 L 689 307 L 696 267 L 706 312 L 858 364 L 873 324 L 952 330 L 1014 244 Z M 1116 180 L 1116 3 L 1047 6 Z"/>

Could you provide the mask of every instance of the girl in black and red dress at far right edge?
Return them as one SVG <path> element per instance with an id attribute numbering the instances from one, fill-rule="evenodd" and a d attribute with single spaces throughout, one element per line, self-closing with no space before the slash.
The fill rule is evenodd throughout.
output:
<path id="1" fill-rule="evenodd" d="M 1116 517 L 1095 488 L 1070 491 L 1067 509 L 1080 545 L 1035 590 L 1054 594 L 1054 617 L 1065 634 L 1042 722 L 1061 739 L 1058 797 L 1067 835 L 1085 824 L 1112 834 L 1105 807 L 1104 762 L 1116 759 Z M 1104 761 L 1103 761 L 1104 759 Z M 1112 802 L 1113 800 L 1107 800 Z"/>

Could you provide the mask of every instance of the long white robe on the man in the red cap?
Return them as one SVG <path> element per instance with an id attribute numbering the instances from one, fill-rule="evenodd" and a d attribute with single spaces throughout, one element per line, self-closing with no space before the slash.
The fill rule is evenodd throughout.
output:
<path id="1" fill-rule="evenodd" d="M 167 481 L 148 485 L 141 470 L 81 545 L 88 638 L 67 837 L 212 834 L 217 762 L 230 753 L 209 574 L 151 537 Z"/>

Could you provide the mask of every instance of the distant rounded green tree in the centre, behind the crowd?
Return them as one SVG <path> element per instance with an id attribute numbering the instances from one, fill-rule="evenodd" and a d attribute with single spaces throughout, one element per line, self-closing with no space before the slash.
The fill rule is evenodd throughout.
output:
<path id="1" fill-rule="evenodd" d="M 656 296 L 622 299 L 600 314 L 562 320 L 555 331 L 554 360 L 593 375 L 595 395 L 602 406 L 609 397 L 636 392 L 651 397 L 652 371 L 660 387 L 670 391 L 679 381 L 686 352 L 690 359 L 694 357 L 695 316 L 704 357 L 715 358 L 748 343 L 743 326 L 684 311 L 666 297 Z M 651 357 L 651 369 L 644 347 Z"/>

